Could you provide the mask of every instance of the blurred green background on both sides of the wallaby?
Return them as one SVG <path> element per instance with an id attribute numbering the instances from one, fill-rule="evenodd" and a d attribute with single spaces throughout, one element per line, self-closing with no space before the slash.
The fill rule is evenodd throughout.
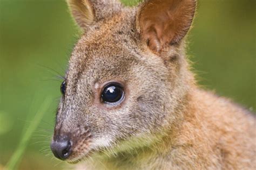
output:
<path id="1" fill-rule="evenodd" d="M 255 111 L 255 1 L 199 0 L 196 16 L 187 53 L 200 85 Z M 51 108 L 19 169 L 63 165 L 49 144 L 58 75 L 65 73 L 77 35 L 64 0 L 0 0 L 0 169 L 46 96 L 53 98 Z"/>

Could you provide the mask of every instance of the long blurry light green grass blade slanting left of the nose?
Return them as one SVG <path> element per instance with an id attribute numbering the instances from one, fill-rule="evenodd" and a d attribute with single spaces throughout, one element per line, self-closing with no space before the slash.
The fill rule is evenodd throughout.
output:
<path id="1" fill-rule="evenodd" d="M 28 126 L 28 130 L 26 130 L 23 134 L 23 137 L 17 147 L 17 150 L 12 155 L 11 159 L 5 166 L 5 170 L 12 170 L 16 169 L 18 167 L 19 162 L 21 162 L 22 155 L 26 149 L 26 146 L 28 146 L 29 140 L 32 136 L 32 133 L 37 129 L 37 126 L 41 122 L 44 113 L 50 108 L 51 105 L 51 98 L 47 97 L 39 110 L 37 111 L 35 117 L 32 120 L 32 123 Z"/>

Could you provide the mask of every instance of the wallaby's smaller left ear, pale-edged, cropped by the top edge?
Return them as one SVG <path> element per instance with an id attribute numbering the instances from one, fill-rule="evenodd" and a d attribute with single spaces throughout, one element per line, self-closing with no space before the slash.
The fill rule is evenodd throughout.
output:
<path id="1" fill-rule="evenodd" d="M 77 24 L 86 29 L 87 26 L 111 17 L 122 9 L 116 0 L 66 0 Z"/>

